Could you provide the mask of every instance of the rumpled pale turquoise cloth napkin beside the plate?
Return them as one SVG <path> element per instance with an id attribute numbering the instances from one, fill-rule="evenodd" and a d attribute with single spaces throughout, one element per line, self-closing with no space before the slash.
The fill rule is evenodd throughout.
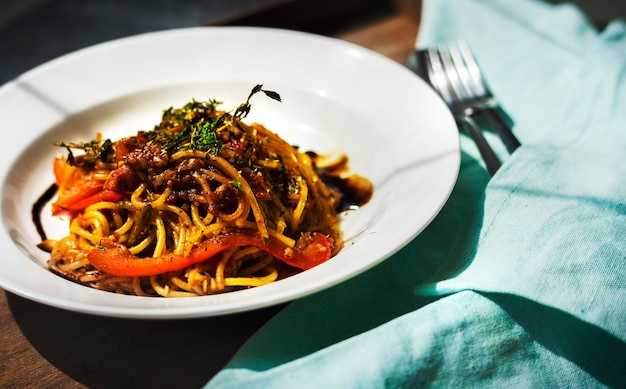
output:
<path id="1" fill-rule="evenodd" d="M 424 1 L 419 46 L 457 39 L 523 146 L 489 180 L 462 138 L 422 234 L 288 305 L 207 387 L 626 386 L 626 24 Z"/>

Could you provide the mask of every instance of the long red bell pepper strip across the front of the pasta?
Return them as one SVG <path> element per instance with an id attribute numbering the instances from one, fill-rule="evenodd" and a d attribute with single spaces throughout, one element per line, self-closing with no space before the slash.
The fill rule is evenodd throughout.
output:
<path id="1" fill-rule="evenodd" d="M 111 239 L 102 239 L 88 254 L 89 262 L 98 270 L 116 276 L 150 276 L 182 270 L 204 262 L 231 247 L 255 246 L 268 252 L 286 264 L 302 270 L 317 266 L 330 258 L 333 241 L 321 233 L 313 233 L 312 240 L 304 250 L 289 247 L 279 239 L 264 241 L 253 230 L 238 230 L 207 239 L 194 248 L 189 255 L 167 254 L 161 257 L 140 258 L 126 246 Z"/>

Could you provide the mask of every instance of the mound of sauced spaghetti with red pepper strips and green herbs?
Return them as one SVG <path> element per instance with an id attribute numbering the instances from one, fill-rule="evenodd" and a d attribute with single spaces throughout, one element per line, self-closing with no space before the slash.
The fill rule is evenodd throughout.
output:
<path id="1" fill-rule="evenodd" d="M 107 291 L 177 297 L 265 285 L 334 256 L 341 192 L 315 154 L 242 121 L 259 92 L 280 101 L 257 85 L 234 113 L 193 100 L 135 136 L 58 142 L 68 155 L 54 161 L 52 213 L 70 225 L 40 245 L 50 269 Z"/>

